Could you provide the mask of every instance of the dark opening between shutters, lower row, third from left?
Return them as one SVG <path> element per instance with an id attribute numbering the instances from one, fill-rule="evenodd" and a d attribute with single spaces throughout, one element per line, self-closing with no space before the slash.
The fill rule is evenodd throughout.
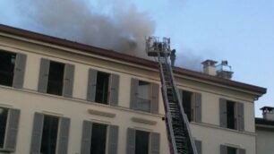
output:
<path id="1" fill-rule="evenodd" d="M 91 154 L 105 154 L 107 141 L 107 125 L 92 124 Z"/>

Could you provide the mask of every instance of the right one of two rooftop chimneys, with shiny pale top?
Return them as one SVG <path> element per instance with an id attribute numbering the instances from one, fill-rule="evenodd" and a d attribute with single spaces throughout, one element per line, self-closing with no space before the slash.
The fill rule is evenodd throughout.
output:
<path id="1" fill-rule="evenodd" d="M 228 65 L 227 60 L 222 61 L 221 64 L 216 66 L 216 73 L 216 76 L 224 79 L 231 79 L 233 74 L 231 66 Z"/>

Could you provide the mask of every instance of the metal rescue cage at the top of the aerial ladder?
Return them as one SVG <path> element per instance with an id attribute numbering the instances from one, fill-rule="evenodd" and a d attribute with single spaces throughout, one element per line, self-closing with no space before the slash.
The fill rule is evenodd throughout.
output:
<path id="1" fill-rule="evenodd" d="M 146 52 L 148 56 L 169 56 L 170 39 L 163 38 L 160 41 L 157 37 L 149 37 L 146 39 Z"/>

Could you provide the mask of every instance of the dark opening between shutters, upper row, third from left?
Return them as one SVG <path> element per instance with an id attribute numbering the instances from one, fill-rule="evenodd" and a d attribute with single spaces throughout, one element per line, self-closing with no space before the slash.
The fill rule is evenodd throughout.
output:
<path id="1" fill-rule="evenodd" d="M 101 72 L 97 74 L 95 101 L 98 103 L 107 104 L 109 75 Z"/>

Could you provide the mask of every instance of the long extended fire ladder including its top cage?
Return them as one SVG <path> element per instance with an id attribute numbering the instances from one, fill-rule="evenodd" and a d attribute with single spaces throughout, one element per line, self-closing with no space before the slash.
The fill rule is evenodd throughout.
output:
<path id="1" fill-rule="evenodd" d="M 154 56 L 158 60 L 170 154 L 197 154 L 172 67 L 168 63 L 168 56 L 171 54 L 170 39 L 163 38 L 159 41 L 156 37 L 149 37 L 146 39 L 146 51 L 148 56 Z"/>

